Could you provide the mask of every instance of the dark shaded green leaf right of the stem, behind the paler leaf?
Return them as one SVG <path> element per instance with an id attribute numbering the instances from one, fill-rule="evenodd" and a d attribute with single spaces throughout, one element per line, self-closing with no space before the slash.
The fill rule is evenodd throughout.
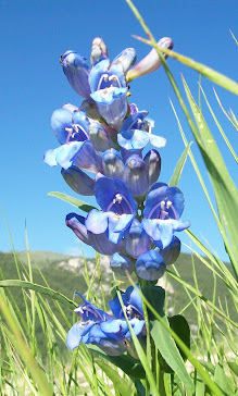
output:
<path id="1" fill-rule="evenodd" d="M 187 320 L 180 315 L 176 314 L 168 318 L 171 329 L 177 334 L 177 336 L 185 343 L 185 345 L 190 349 L 190 329 Z M 177 348 L 184 360 L 187 360 L 187 356 L 180 350 L 179 346 Z"/>

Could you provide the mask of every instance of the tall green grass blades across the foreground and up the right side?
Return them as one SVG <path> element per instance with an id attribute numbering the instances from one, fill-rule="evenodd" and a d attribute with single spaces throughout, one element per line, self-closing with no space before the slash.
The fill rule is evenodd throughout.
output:
<path id="1" fill-rule="evenodd" d="M 135 9 L 131 1 L 126 1 L 148 36 L 147 39 L 141 40 L 156 48 L 158 53 L 161 55 L 161 49 L 156 46 L 156 41 L 138 10 Z M 235 95 L 238 94 L 237 83 L 226 76 L 187 57 L 164 49 L 163 52 L 166 52 L 176 61 L 193 67 L 213 83 L 223 86 Z M 189 158 L 224 240 L 230 259 L 230 271 L 211 249 L 191 231 L 188 231 L 188 236 L 198 247 L 198 251 L 202 251 L 203 255 L 201 256 L 195 249 L 191 249 L 191 253 L 200 258 L 213 279 L 211 285 L 212 298 L 209 299 L 200 292 L 192 255 L 191 268 L 195 286 L 180 277 L 176 265 L 173 265 L 166 272 L 167 282 L 173 277 L 183 286 L 187 295 L 185 306 L 180 312 L 176 313 L 183 313 L 186 317 L 187 308 L 192 306 L 197 314 L 197 327 L 191 332 L 191 349 L 183 341 L 183 335 L 178 337 L 177 333 L 168 325 L 166 317 L 162 318 L 147 296 L 142 296 L 145 312 L 152 312 L 156 318 L 156 323 L 152 329 L 156 333 L 154 336 L 155 346 L 150 344 L 150 337 L 148 337 L 147 350 L 145 351 L 137 337 L 131 333 L 139 360 L 131 358 L 130 364 L 126 367 L 123 357 L 120 359 L 109 358 L 92 346 L 87 348 L 82 345 L 73 352 L 66 350 L 65 347 L 65 351 L 62 354 L 66 333 L 76 321 L 73 309 L 77 304 L 51 289 L 40 269 L 38 269 L 38 272 L 43 286 L 35 283 L 28 245 L 27 267 L 21 262 L 13 248 L 18 279 L 4 280 L 1 276 L 2 281 L 0 281 L 0 388 L 2 395 L 238 395 L 238 321 L 230 318 L 230 307 L 226 301 L 222 304 L 218 300 L 217 304 L 216 298 L 217 280 L 222 280 L 227 289 L 227 295 L 230 296 L 236 311 L 238 311 L 238 191 L 214 135 L 211 133 L 202 110 L 196 103 L 185 78 L 183 77 L 185 89 L 185 94 L 183 94 L 179 91 L 177 83 L 162 57 L 161 60 L 178 99 L 178 104 L 186 115 L 187 123 L 202 154 L 215 195 L 215 203 L 209 195 L 203 175 L 192 153 L 192 146 L 187 140 L 179 121 L 178 109 L 174 103 L 171 103 L 172 110 L 185 144 L 185 151 L 175 168 L 171 183 L 173 185 L 179 183 L 185 162 Z M 202 87 L 200 87 L 200 92 L 217 125 L 217 129 L 229 148 L 230 156 L 237 161 L 237 153 L 231 147 L 222 127 L 222 122 L 215 115 L 215 110 L 212 109 Z M 184 96 L 189 102 L 190 110 L 186 106 Z M 223 109 L 217 95 L 216 99 L 217 106 Z M 231 111 L 228 114 L 224 109 L 223 111 L 237 132 L 238 123 L 234 112 Z M 61 198 L 65 199 L 65 196 L 62 195 Z M 78 206 L 78 201 L 75 200 L 71 203 Z M 226 211 L 223 210 L 224 207 Z M 96 268 L 92 276 L 89 276 L 86 259 L 84 259 L 84 276 L 88 289 L 87 298 L 102 309 L 107 309 L 105 300 L 108 296 L 104 292 L 99 255 L 96 257 Z M 96 281 L 99 287 L 95 287 Z M 134 283 L 133 280 L 129 280 L 129 282 Z M 121 298 L 117 285 L 120 285 L 120 282 L 116 283 L 114 280 L 114 290 Z M 14 297 L 12 287 L 21 289 L 24 310 L 18 308 L 18 300 Z M 165 307 L 168 307 L 168 301 L 165 301 Z M 65 311 L 68 312 L 68 310 L 72 311 L 71 320 L 65 314 Z M 45 355 L 42 355 L 42 347 L 37 338 L 36 323 L 39 323 L 43 335 Z M 151 348 L 155 348 L 158 356 L 159 354 L 162 355 L 165 360 L 164 364 L 166 364 L 171 361 L 170 346 L 173 348 L 175 343 L 184 358 L 187 359 L 186 366 L 180 364 L 180 358 L 177 358 L 173 362 L 173 370 L 161 367 L 159 362 L 161 360 L 159 359 L 155 367 L 152 367 Z"/>

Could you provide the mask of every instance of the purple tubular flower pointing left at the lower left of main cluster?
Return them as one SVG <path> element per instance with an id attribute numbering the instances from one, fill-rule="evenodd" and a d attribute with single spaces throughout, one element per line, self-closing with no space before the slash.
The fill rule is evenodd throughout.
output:
<path id="1" fill-rule="evenodd" d="M 82 242 L 91 246 L 101 255 L 113 255 L 123 249 L 123 243 L 113 244 L 109 240 L 107 233 L 95 235 L 88 232 L 85 226 L 85 218 L 82 215 L 68 213 L 65 223 Z"/>

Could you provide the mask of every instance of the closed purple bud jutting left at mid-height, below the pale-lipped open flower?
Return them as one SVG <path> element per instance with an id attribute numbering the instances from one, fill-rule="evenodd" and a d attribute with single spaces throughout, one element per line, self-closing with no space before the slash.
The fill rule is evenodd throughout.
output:
<path id="1" fill-rule="evenodd" d="M 75 193 L 85 196 L 93 195 L 95 181 L 77 166 L 73 165 L 67 170 L 62 169 L 61 174 Z"/>

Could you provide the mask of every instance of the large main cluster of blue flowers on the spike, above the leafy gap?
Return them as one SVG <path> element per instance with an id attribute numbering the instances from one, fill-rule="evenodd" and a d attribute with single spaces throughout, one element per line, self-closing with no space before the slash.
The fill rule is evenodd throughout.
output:
<path id="1" fill-rule="evenodd" d="M 170 38 L 159 45 L 173 47 Z M 154 123 L 147 111 L 128 103 L 128 82 L 158 69 L 161 60 L 153 49 L 133 66 L 136 52 L 127 48 L 110 62 L 98 37 L 90 60 L 91 70 L 75 51 L 61 57 L 68 83 L 85 100 L 79 108 L 64 104 L 53 112 L 51 125 L 61 146 L 48 150 L 45 162 L 59 164 L 73 190 L 93 195 L 100 207 L 86 218 L 67 214 L 66 225 L 77 237 L 110 255 L 115 273 L 136 271 L 140 279 L 156 281 L 179 255 L 180 242 L 174 233 L 189 222 L 180 220 L 185 201 L 180 189 L 158 182 L 161 157 L 156 149 L 166 140 L 152 134 Z M 149 143 L 153 148 L 143 154 Z M 103 331 L 101 324 L 97 329 Z"/>

